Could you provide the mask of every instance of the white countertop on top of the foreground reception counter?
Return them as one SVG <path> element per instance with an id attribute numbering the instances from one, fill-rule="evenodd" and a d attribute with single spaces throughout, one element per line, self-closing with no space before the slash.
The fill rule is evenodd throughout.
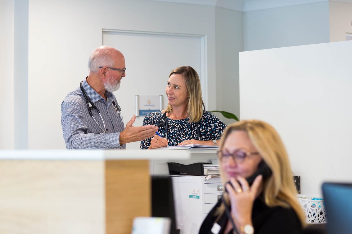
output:
<path id="1" fill-rule="evenodd" d="M 0 160 L 187 160 L 193 150 L 0 150 Z"/>

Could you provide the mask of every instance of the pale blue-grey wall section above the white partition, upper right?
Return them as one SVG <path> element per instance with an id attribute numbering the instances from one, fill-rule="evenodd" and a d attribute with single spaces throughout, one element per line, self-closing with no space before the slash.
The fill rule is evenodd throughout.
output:
<path id="1" fill-rule="evenodd" d="M 244 50 L 329 42 L 329 2 L 243 13 Z"/>

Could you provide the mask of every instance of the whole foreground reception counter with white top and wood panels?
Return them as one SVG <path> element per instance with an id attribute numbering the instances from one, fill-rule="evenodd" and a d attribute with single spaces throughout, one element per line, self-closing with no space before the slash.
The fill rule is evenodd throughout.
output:
<path id="1" fill-rule="evenodd" d="M 187 150 L 0 151 L 0 233 L 130 234 L 134 217 L 151 215 L 150 161 L 190 158 Z"/>

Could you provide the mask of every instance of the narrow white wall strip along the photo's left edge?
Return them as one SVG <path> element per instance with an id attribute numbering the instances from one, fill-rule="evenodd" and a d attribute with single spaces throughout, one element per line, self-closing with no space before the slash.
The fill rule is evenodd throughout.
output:
<path id="1" fill-rule="evenodd" d="M 14 1 L 0 0 L 0 149 L 14 148 Z"/>

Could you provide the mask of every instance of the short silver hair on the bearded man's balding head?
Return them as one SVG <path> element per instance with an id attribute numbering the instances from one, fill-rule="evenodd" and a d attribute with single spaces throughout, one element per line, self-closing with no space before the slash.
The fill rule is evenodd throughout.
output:
<path id="1" fill-rule="evenodd" d="M 98 72 L 99 67 L 112 67 L 114 59 L 112 58 L 111 47 L 100 47 L 96 49 L 89 57 L 88 68 L 89 71 Z"/>

